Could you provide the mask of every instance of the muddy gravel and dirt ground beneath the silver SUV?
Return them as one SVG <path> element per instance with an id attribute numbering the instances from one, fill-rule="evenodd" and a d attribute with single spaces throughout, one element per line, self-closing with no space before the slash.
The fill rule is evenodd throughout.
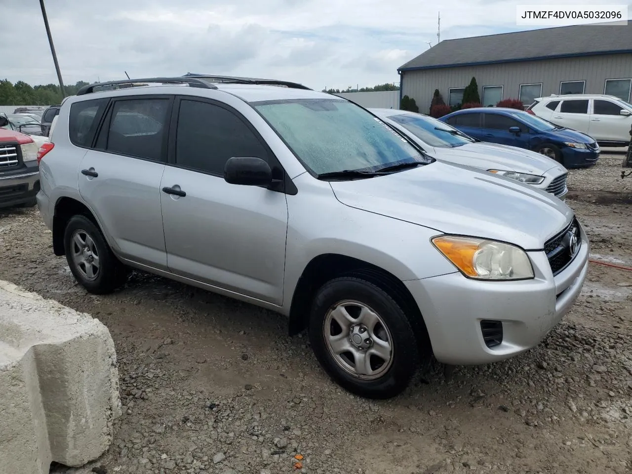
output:
<path id="1" fill-rule="evenodd" d="M 567 202 L 592 258 L 632 267 L 632 177 L 620 178 L 622 158 L 571 170 Z M 36 209 L 0 211 L 0 279 L 111 331 L 124 415 L 111 449 L 85 471 L 632 472 L 629 270 L 590 264 L 574 308 L 525 355 L 447 378 L 432 363 L 403 396 L 382 402 L 339 389 L 306 337 L 288 337 L 275 313 L 140 273 L 113 295 L 88 295 L 52 254 Z"/>

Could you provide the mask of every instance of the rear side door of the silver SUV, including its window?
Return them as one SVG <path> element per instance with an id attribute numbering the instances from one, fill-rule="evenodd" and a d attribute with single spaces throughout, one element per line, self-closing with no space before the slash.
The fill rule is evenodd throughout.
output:
<path id="1" fill-rule="evenodd" d="M 160 183 L 172 107 L 168 95 L 112 99 L 78 176 L 82 198 L 117 253 L 158 269 L 167 267 Z"/>

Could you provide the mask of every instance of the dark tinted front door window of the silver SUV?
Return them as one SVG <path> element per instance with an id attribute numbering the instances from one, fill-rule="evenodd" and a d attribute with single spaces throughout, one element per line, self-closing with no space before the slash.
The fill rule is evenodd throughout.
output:
<path id="1" fill-rule="evenodd" d="M 232 157 L 268 161 L 268 152 L 250 128 L 224 107 L 182 100 L 176 135 L 176 164 L 222 175 Z"/>

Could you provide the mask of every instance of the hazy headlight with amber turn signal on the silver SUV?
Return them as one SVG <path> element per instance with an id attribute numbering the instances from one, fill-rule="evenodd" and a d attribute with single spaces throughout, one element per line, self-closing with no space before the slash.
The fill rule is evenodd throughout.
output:
<path id="1" fill-rule="evenodd" d="M 441 235 L 432 243 L 465 276 L 480 280 L 533 278 L 533 267 L 521 248 L 475 237 Z"/>

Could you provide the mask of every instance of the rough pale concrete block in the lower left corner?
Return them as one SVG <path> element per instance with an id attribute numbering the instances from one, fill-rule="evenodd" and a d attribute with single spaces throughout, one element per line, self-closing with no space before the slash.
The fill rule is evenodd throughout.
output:
<path id="1" fill-rule="evenodd" d="M 0 472 L 82 466 L 109 447 L 119 415 L 107 327 L 0 281 Z"/>

